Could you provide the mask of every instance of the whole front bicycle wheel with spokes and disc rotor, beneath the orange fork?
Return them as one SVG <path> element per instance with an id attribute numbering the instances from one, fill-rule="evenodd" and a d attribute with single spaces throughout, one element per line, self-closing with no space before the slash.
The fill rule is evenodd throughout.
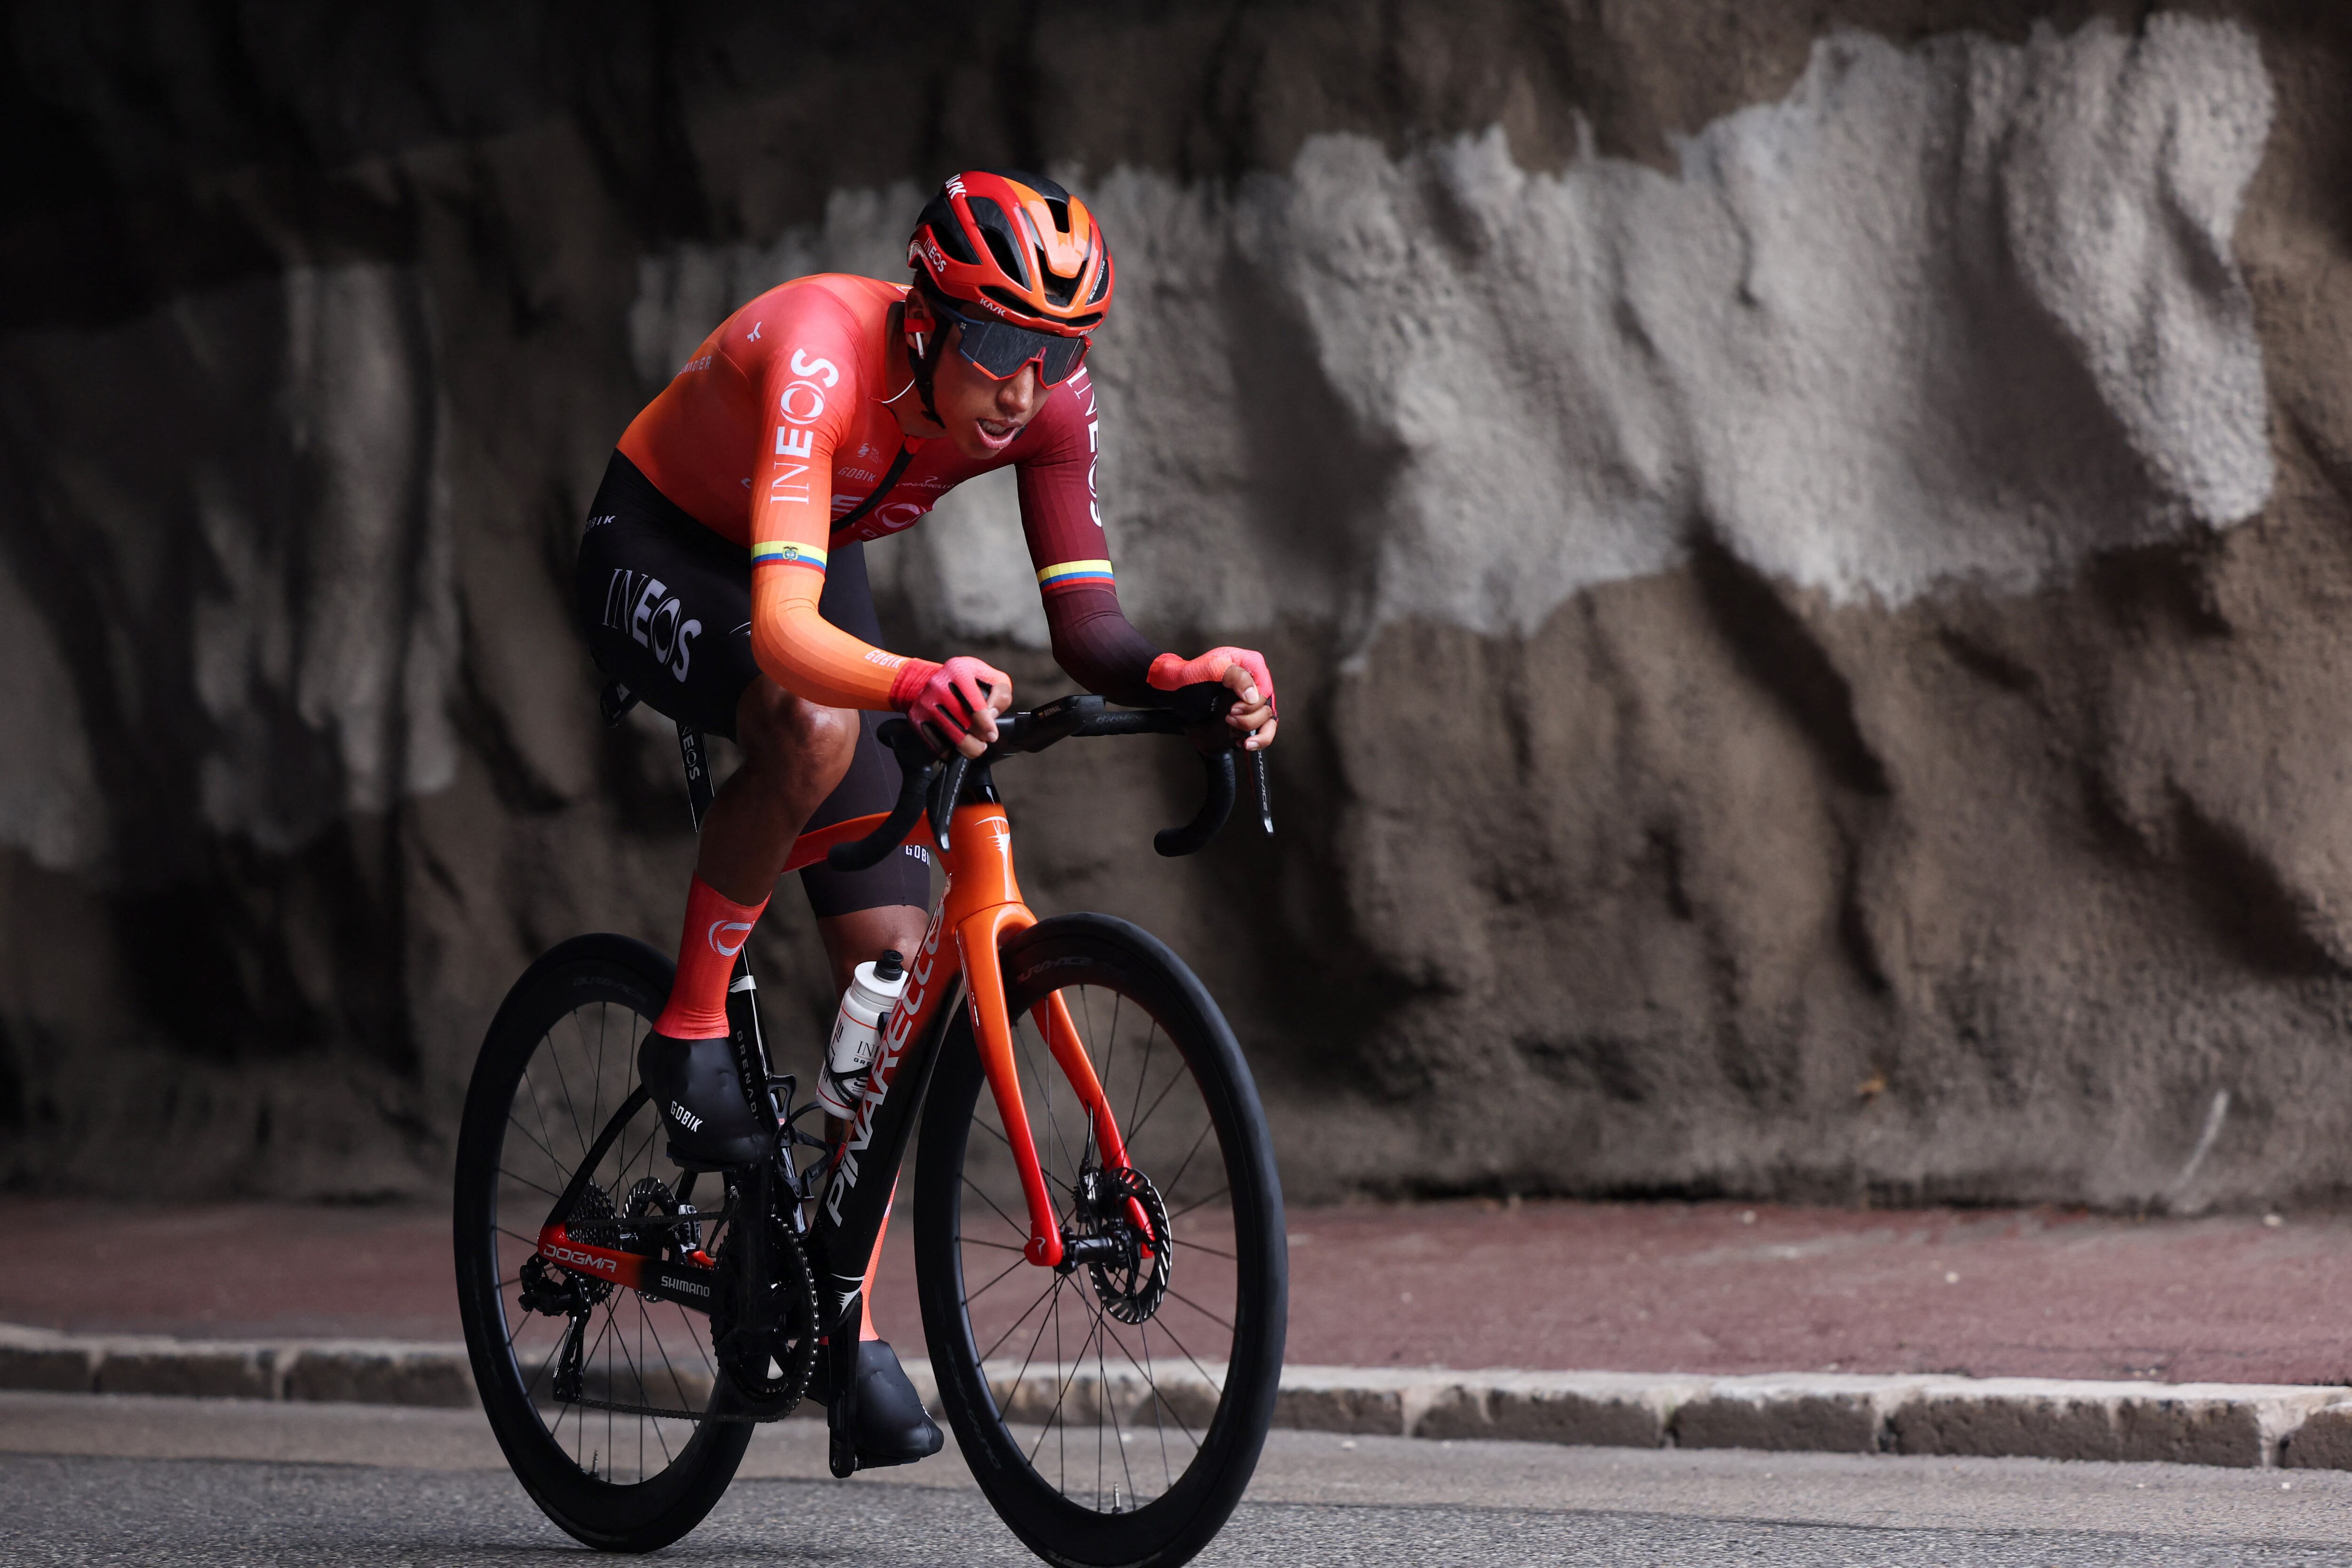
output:
<path id="1" fill-rule="evenodd" d="M 915 1168 L 915 1267 L 938 1396 L 1011 1530 L 1054 1563 L 1183 1563 L 1256 1469 L 1282 1378 L 1289 1255 L 1265 1112 L 1183 961 L 1103 914 L 1000 954 L 1014 1056 L 1065 1234 L 1145 1213 L 1162 1246 L 1042 1269 L 995 1095 L 960 1016 Z M 1108 1166 L 1035 1011 L 1058 992 L 1127 1143 Z"/>

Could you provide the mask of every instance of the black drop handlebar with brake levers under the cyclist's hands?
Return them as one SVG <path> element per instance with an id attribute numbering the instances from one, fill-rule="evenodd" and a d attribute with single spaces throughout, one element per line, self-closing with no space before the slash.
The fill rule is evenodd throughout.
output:
<path id="1" fill-rule="evenodd" d="M 1188 736 L 1200 752 L 1202 802 L 1192 820 L 1181 827 L 1162 827 L 1152 835 L 1152 849 L 1162 856 L 1190 856 L 1223 830 L 1232 816 L 1237 776 L 1232 766 L 1235 743 L 1225 729 L 1225 712 L 1235 696 L 1225 686 L 1185 686 L 1171 708 L 1110 708 L 1098 696 L 1065 696 L 1030 712 L 1007 712 L 997 719 L 997 741 L 978 757 L 950 752 L 938 757 L 931 745 L 906 719 L 889 719 L 875 738 L 898 759 L 898 804 L 870 835 L 856 844 L 835 844 L 826 851 L 826 865 L 858 872 L 898 849 L 915 820 L 929 811 L 931 837 L 941 851 L 948 849 L 948 818 L 964 795 L 974 769 L 985 769 L 1014 752 L 1042 752 L 1073 736 Z M 1265 778 L 1265 752 L 1242 752 L 1258 792 L 1258 825 L 1270 835 L 1275 811 Z"/>

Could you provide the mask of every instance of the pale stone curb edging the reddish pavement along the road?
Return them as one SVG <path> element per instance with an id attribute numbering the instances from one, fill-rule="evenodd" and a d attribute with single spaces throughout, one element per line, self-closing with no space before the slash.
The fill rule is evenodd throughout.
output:
<path id="1" fill-rule="evenodd" d="M 908 1373 L 936 1408 L 929 1366 Z M 1014 1418 L 1056 1399 L 1143 1413 L 1136 1378 L 990 1366 Z M 1200 1382 L 1200 1387 L 1192 1387 Z M 463 1408 L 463 1345 L 397 1340 L 212 1342 L 66 1335 L 0 1324 L 0 1389 L 355 1401 Z M 1190 1420 L 1200 1378 L 1157 1385 Z M 814 1415 L 814 1406 L 809 1408 Z M 2067 1382 L 2051 1378 L 1700 1378 L 1287 1366 L 1275 1425 L 1359 1436 L 1501 1439 L 1621 1448 L 1766 1448 L 2037 1460 L 2352 1469 L 2352 1387 Z"/>

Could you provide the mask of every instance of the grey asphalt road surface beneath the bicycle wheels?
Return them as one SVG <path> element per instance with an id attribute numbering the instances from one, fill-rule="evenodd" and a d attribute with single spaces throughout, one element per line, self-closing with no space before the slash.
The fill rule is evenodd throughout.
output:
<path id="1" fill-rule="evenodd" d="M 823 1474 L 760 1434 L 663 1559 L 1028 1563 L 950 1453 Z M 480 1415 L 0 1396 L 5 1563 L 546 1563 L 572 1554 Z M 1202 1563 L 2347 1563 L 2352 1474 L 1651 1453 L 1277 1432 Z"/>

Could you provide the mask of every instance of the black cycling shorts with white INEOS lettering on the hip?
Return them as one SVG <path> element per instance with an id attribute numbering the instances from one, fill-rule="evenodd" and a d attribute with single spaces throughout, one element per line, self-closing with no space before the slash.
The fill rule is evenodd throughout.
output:
<path id="1" fill-rule="evenodd" d="M 760 677 L 750 656 L 750 552 L 694 522 L 619 451 L 588 503 L 574 604 L 597 668 L 647 708 L 734 741 L 736 703 Z M 818 614 L 851 637 L 882 646 L 866 545 L 842 543 L 826 564 Z M 863 731 L 849 773 L 809 818 L 828 827 L 898 804 L 898 759 L 875 729 L 891 715 L 858 715 Z M 906 844 L 863 872 L 811 865 L 800 886 L 818 919 L 931 905 L 931 851 Z"/>

